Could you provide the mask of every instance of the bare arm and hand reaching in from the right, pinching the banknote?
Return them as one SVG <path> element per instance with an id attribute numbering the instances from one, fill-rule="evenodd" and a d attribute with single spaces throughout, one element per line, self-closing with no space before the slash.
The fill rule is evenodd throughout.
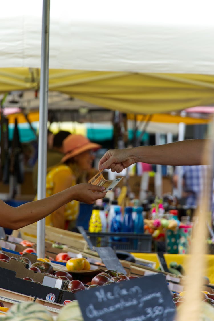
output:
<path id="1" fill-rule="evenodd" d="M 109 150 L 101 158 L 99 169 L 121 172 L 133 163 L 161 165 L 201 165 L 206 140 L 191 139 L 176 143 Z"/>

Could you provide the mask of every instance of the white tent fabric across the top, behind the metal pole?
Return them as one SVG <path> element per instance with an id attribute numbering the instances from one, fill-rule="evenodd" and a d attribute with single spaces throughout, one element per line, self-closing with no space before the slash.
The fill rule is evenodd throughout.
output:
<path id="1" fill-rule="evenodd" d="M 212 0 L 50 2 L 49 68 L 214 74 Z M 40 67 L 42 0 L 0 10 L 0 67 Z"/>

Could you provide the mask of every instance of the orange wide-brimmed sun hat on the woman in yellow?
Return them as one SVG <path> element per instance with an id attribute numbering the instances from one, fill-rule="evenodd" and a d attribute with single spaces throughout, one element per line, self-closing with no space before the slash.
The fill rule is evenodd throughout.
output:
<path id="1" fill-rule="evenodd" d="M 62 146 L 65 156 L 62 157 L 61 163 L 90 149 L 95 151 L 102 147 L 99 144 L 90 142 L 85 136 L 76 134 L 66 137 L 63 140 Z"/>

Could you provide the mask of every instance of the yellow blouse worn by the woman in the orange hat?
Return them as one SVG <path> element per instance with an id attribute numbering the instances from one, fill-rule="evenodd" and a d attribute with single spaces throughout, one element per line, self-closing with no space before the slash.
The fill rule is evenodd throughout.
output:
<path id="1" fill-rule="evenodd" d="M 60 186 L 67 177 L 72 176 L 71 186 L 77 184 L 76 178 L 72 169 L 66 164 L 59 164 L 52 167 L 46 176 L 46 197 L 63 190 Z M 56 191 L 57 189 L 57 191 Z M 79 213 L 79 202 L 71 201 L 65 205 L 65 220 L 74 221 L 77 219 Z M 45 225 L 53 226 L 52 213 L 45 218 Z"/>

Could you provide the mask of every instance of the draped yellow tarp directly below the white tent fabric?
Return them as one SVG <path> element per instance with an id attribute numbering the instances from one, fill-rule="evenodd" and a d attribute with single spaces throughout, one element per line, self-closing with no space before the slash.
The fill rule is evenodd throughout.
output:
<path id="1" fill-rule="evenodd" d="M 39 69 L 0 68 L 0 92 L 38 89 Z M 49 70 L 49 90 L 135 114 L 214 104 L 214 75 Z"/>

